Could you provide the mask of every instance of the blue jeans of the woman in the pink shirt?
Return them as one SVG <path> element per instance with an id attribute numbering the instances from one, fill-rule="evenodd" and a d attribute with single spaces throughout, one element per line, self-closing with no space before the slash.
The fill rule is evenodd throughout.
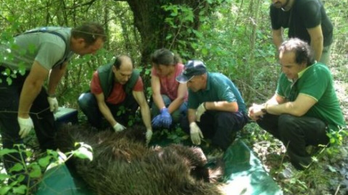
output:
<path id="1" fill-rule="evenodd" d="M 169 106 L 169 104 L 172 103 L 172 100 L 169 99 L 168 96 L 166 95 L 161 95 L 164 105 L 166 107 Z M 155 102 L 152 102 L 151 105 L 151 115 L 152 117 L 156 117 L 157 115 L 159 115 L 160 111 L 157 108 L 157 105 L 155 104 Z M 183 102 L 180 107 L 178 109 L 176 109 L 174 112 L 171 113 L 172 119 L 173 119 L 173 124 L 178 123 L 183 117 L 187 116 L 187 102 Z"/>

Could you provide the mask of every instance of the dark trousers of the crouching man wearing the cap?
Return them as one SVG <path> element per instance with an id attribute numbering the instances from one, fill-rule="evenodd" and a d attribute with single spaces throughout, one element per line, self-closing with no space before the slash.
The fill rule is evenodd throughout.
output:
<path id="1" fill-rule="evenodd" d="M 234 141 L 236 132 L 248 122 L 244 112 L 206 111 L 197 122 L 205 138 L 212 139 L 212 143 L 226 150 Z M 185 132 L 190 133 L 188 118 L 181 122 Z"/>

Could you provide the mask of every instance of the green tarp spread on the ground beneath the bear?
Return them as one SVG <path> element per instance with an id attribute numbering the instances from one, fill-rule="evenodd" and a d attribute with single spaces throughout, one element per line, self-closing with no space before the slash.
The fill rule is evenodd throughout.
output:
<path id="1" fill-rule="evenodd" d="M 261 161 L 245 145 L 236 140 L 224 153 L 224 181 L 228 195 L 282 195 L 274 180 L 264 170 Z M 117 184 L 115 184 L 117 185 Z M 36 195 L 94 195 L 81 178 L 72 176 L 62 164 L 45 173 Z"/>

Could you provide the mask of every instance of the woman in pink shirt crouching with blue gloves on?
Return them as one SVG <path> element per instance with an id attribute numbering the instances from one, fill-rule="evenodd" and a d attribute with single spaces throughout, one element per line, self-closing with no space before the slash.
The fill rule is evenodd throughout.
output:
<path id="1" fill-rule="evenodd" d="M 152 126 L 169 128 L 187 114 L 187 85 L 175 80 L 184 65 L 178 55 L 168 49 L 151 55 Z"/>

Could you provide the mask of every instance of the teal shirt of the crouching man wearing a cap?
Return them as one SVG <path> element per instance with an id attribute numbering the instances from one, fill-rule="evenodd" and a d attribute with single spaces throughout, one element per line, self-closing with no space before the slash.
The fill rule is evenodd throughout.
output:
<path id="1" fill-rule="evenodd" d="M 246 107 L 237 87 L 225 75 L 207 73 L 207 87 L 193 92 L 189 89 L 188 105 L 190 109 L 197 109 L 203 102 L 227 101 L 237 102 L 238 110 L 246 112 Z"/>

